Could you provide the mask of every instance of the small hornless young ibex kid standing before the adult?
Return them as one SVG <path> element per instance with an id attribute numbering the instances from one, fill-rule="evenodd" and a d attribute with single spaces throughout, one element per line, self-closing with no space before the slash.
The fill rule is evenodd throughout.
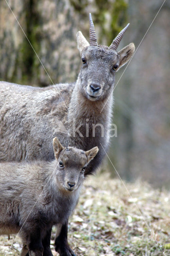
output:
<path id="1" fill-rule="evenodd" d="M 54 224 L 60 233 L 78 202 L 86 166 L 98 152 L 98 147 L 64 148 L 57 138 L 53 148 L 52 162 L 0 164 L 0 234 L 19 232 L 22 256 L 50 254 L 44 251 L 46 236 Z"/>

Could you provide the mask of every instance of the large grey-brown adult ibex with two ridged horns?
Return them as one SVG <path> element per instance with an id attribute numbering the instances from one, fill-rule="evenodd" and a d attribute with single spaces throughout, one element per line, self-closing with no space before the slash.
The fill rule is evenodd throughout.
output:
<path id="1" fill-rule="evenodd" d="M 90 44 L 80 31 L 77 34 L 82 67 L 75 83 L 46 88 L 0 83 L 0 161 L 52 160 L 51 141 L 57 136 L 64 146 L 70 143 L 85 151 L 98 146 L 85 175 L 96 170 L 105 155 L 101 144 L 108 148 L 115 73 L 134 53 L 133 43 L 117 52 L 127 28 L 109 47 L 98 45 L 90 14 Z M 67 221 L 55 249 L 74 256 L 67 242 Z"/>

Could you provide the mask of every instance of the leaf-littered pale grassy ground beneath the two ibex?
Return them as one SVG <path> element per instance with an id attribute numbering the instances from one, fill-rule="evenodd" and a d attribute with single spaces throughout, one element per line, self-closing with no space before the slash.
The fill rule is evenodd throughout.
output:
<path id="1" fill-rule="evenodd" d="M 0 256 L 20 254 L 22 243 L 15 237 L 0 237 Z M 51 248 L 58 256 L 54 237 L 55 227 Z M 123 183 L 106 173 L 91 176 L 70 218 L 68 240 L 77 256 L 168 256 L 170 192 L 142 181 Z"/>

